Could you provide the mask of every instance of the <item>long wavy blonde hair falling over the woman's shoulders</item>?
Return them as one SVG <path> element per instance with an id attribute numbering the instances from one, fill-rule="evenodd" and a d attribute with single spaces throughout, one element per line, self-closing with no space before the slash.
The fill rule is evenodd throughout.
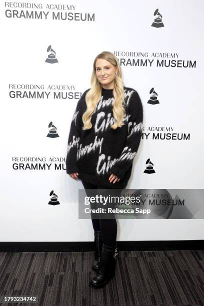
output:
<path id="1" fill-rule="evenodd" d="M 95 69 L 95 63 L 98 58 L 103 58 L 109 61 L 113 66 L 117 66 L 118 72 L 115 75 L 114 78 L 114 88 L 113 88 L 113 97 L 114 97 L 114 103 L 113 103 L 113 117 L 115 119 L 115 123 L 111 125 L 112 129 L 116 129 L 117 127 L 121 127 L 124 125 L 123 116 L 125 114 L 125 108 L 124 108 L 124 89 L 123 89 L 123 81 L 122 81 L 122 73 L 121 68 L 119 65 L 119 61 L 117 57 L 109 51 L 103 51 L 99 53 L 93 62 L 93 70 L 90 78 L 90 84 L 91 88 L 87 91 L 85 96 L 85 102 L 87 109 L 82 115 L 82 121 L 83 121 L 83 127 L 82 129 L 89 129 L 92 127 L 92 124 L 90 122 L 91 115 L 95 110 L 97 102 L 101 98 L 101 87 L 102 84 L 98 81 L 96 77 L 96 69 Z"/>

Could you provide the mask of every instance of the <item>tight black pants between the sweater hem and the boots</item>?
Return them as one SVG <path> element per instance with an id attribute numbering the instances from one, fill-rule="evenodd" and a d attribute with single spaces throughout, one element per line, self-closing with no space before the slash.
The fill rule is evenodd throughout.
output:
<path id="1" fill-rule="evenodd" d="M 81 182 L 83 184 L 83 187 L 85 189 L 85 193 L 87 196 L 95 196 L 96 194 L 98 195 L 101 194 L 101 192 L 99 192 L 98 189 L 105 189 L 102 195 L 105 194 L 107 196 L 108 195 L 107 191 L 111 189 L 111 193 L 109 193 L 110 195 L 119 196 L 122 190 L 122 189 L 117 188 L 116 183 L 115 183 L 115 188 L 104 188 L 104 187 L 100 187 L 98 185 L 86 182 L 84 180 L 81 180 Z M 87 189 L 95 189 L 95 190 L 87 190 Z M 115 204 L 107 202 L 105 206 L 114 208 Z M 90 202 L 90 208 L 91 209 L 96 208 L 95 203 Z M 96 214 L 93 214 L 93 213 L 90 213 L 90 214 L 91 214 L 91 221 L 92 221 L 93 229 L 101 231 L 102 242 L 108 246 L 115 246 L 116 236 L 117 236 L 117 222 L 116 222 L 114 213 L 113 212 L 111 213 L 111 216 L 110 216 L 111 218 L 104 218 L 104 219 L 95 218 Z"/>

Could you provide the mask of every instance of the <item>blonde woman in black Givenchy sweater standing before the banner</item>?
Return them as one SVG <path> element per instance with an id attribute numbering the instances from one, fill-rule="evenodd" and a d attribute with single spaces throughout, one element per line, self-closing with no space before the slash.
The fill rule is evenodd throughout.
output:
<path id="1" fill-rule="evenodd" d="M 109 190 L 111 195 L 119 195 L 140 143 L 141 100 L 136 90 L 123 85 L 118 59 L 109 51 L 95 57 L 90 83 L 72 117 L 66 172 L 81 179 L 88 196 L 99 189 L 100 194 Z M 90 208 L 95 205 L 90 203 Z M 91 220 L 96 244 L 92 268 L 96 271 L 89 282 L 101 287 L 114 275 L 117 223 L 114 213 L 111 218 L 91 213 Z"/>

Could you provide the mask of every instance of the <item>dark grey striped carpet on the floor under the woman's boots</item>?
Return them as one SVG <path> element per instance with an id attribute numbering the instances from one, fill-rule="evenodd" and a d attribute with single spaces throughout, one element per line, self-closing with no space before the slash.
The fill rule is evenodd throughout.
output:
<path id="1" fill-rule="evenodd" d="M 1 252 L 0 295 L 38 298 L 8 305 L 204 305 L 203 250 L 119 251 L 115 277 L 98 289 L 88 284 L 93 256 Z"/>

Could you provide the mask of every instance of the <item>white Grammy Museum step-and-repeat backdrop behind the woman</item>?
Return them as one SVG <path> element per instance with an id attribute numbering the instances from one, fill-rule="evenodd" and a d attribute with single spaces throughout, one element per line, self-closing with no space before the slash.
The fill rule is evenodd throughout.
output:
<path id="1" fill-rule="evenodd" d="M 203 239 L 203 8 L 202 0 L 1 1 L 0 241 L 93 240 L 90 218 L 78 215 L 82 183 L 66 174 L 65 158 L 76 103 L 105 50 L 144 111 L 126 188 L 155 206 L 186 203 L 179 213 L 117 220 L 117 240 Z"/>

